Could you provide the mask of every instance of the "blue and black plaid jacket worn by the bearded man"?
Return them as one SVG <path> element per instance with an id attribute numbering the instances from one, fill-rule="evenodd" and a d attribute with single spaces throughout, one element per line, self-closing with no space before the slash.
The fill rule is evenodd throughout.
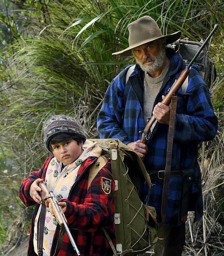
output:
<path id="1" fill-rule="evenodd" d="M 155 99 L 154 106 L 162 101 L 162 95 L 167 94 L 185 67 L 182 57 L 174 53 L 172 49 L 167 49 L 167 56 L 170 59 L 170 69 Z M 136 65 L 129 76 L 129 81 L 125 84 L 129 67 L 126 67 L 112 80 L 97 117 L 99 137 L 118 138 L 124 144 L 140 139 L 146 126 L 143 115 L 144 72 Z M 182 94 L 180 89 L 177 96 L 172 170 L 190 167 L 194 169 L 188 210 L 195 211 L 196 221 L 203 215 L 201 174 L 197 162 L 198 142 L 215 137 L 217 118 L 212 107 L 209 89 L 196 67 L 191 68 L 186 93 Z M 168 125 L 158 123 L 157 130 L 148 143 L 148 153 L 144 159 L 149 173 L 165 168 L 167 136 Z M 161 222 L 163 180 L 154 179 L 152 182 L 155 185 L 148 189 L 145 202 L 155 207 L 157 220 Z M 164 225 L 181 225 L 181 188 L 182 177 L 171 177 Z"/>

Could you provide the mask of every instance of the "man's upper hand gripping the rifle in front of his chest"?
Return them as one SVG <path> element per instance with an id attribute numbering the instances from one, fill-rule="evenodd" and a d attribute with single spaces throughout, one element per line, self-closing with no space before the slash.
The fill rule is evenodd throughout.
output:
<path id="1" fill-rule="evenodd" d="M 164 99 L 164 95 L 162 98 Z M 164 103 L 159 102 L 158 104 L 155 105 L 155 108 L 153 110 L 153 115 L 155 119 L 158 120 L 159 123 L 161 124 L 167 124 L 169 125 L 170 123 L 170 107 L 166 106 Z"/>

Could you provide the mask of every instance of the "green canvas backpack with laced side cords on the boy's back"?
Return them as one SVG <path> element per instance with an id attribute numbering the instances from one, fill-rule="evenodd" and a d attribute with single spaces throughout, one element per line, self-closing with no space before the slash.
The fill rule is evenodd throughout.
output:
<path id="1" fill-rule="evenodd" d="M 116 247 L 103 229 L 114 255 L 134 256 L 149 250 L 157 241 L 156 213 L 153 207 L 144 205 L 138 196 L 140 179 L 151 185 L 142 160 L 118 139 L 90 139 L 102 148 L 98 170 L 91 168 L 89 179 L 111 160 L 115 180 L 114 223 Z M 105 158 L 108 157 L 108 158 Z M 95 169 L 95 170 L 94 170 Z M 95 173 L 95 174 L 94 174 Z M 90 182 L 89 182 L 90 183 Z"/>

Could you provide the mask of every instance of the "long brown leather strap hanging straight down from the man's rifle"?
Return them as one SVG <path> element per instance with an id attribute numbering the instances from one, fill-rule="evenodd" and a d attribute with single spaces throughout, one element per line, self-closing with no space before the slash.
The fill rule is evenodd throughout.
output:
<path id="1" fill-rule="evenodd" d="M 167 142 L 167 150 L 166 150 L 166 166 L 165 166 L 165 172 L 164 172 L 164 188 L 163 188 L 162 207 L 161 207 L 161 215 L 162 215 L 163 223 L 165 222 L 165 219 L 166 219 L 166 207 L 167 207 L 167 201 L 168 201 L 168 191 L 169 191 L 169 183 L 170 183 L 170 175 L 171 175 L 172 143 L 173 143 L 173 135 L 174 135 L 176 109 L 177 109 L 177 96 L 172 95 L 168 142 Z"/>

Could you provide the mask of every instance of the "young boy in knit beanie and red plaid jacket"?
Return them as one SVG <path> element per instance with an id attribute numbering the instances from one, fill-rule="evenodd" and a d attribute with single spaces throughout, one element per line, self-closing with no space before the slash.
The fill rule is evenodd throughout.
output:
<path id="1" fill-rule="evenodd" d="M 36 204 L 27 255 L 36 256 L 38 251 L 43 256 L 77 255 L 67 233 L 62 232 L 54 218 L 51 205 L 46 208 L 42 204 L 39 183 L 44 181 L 60 201 L 81 256 L 112 256 L 102 230 L 106 229 L 115 244 L 114 180 L 110 161 L 87 189 L 89 170 L 97 166 L 101 148 L 86 140 L 78 122 L 64 115 L 53 116 L 43 126 L 43 142 L 53 155 L 44 161 L 39 171 L 31 172 L 22 181 L 19 190 L 19 197 L 26 206 Z"/>

